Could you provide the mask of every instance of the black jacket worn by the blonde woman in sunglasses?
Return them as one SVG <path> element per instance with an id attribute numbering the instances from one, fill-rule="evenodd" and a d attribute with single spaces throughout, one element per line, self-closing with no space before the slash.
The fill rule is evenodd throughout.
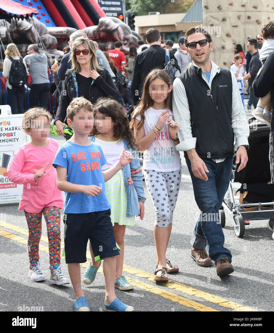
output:
<path id="1" fill-rule="evenodd" d="M 98 98 L 107 96 L 113 98 L 116 101 L 119 101 L 120 93 L 118 92 L 118 89 L 116 88 L 109 72 L 106 69 L 103 69 L 102 71 L 98 71 L 98 74 L 100 74 L 100 76 L 95 79 L 93 85 L 89 88 L 90 102 L 94 104 Z M 72 77 L 72 71 L 68 70 L 66 72 L 65 83 L 60 95 L 54 123 L 57 120 L 60 120 L 63 123 L 65 122 L 67 107 L 75 97 L 76 88 Z"/>

